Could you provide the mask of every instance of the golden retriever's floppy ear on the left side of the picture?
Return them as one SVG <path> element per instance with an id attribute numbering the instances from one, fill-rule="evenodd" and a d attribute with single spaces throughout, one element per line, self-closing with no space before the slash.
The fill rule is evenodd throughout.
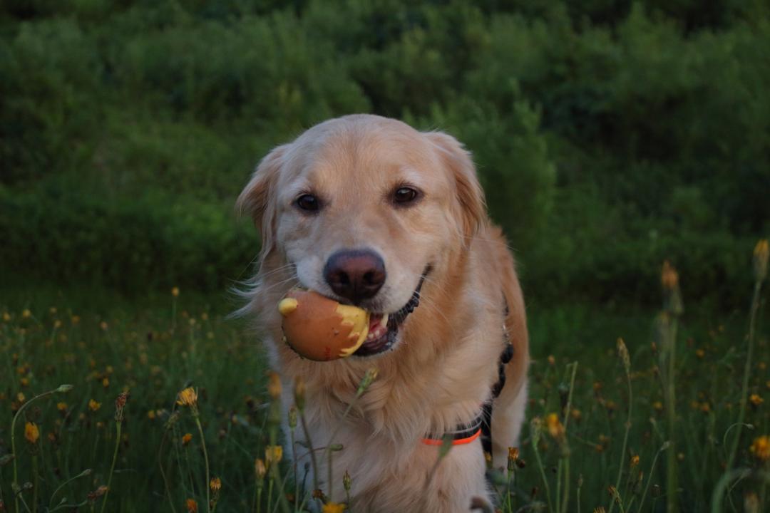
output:
<path id="1" fill-rule="evenodd" d="M 236 201 L 236 211 L 251 216 L 254 225 L 262 237 L 262 254 L 266 255 L 273 248 L 275 232 L 275 205 L 272 195 L 273 185 L 283 165 L 283 158 L 289 145 L 278 146 L 269 152 L 243 188 Z"/>

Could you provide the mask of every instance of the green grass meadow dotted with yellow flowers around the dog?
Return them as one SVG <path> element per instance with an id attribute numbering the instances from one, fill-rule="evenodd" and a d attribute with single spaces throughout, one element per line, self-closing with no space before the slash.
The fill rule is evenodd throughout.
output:
<path id="1" fill-rule="evenodd" d="M 667 279 L 662 312 L 530 305 L 531 424 L 507 471 L 490 473 L 502 511 L 665 511 L 670 497 L 681 511 L 766 511 L 766 303 L 746 291 L 745 311 L 717 314 L 685 298 L 680 314 Z M 0 291 L 0 511 L 207 511 L 207 495 L 212 510 L 299 511 L 314 500 L 286 461 L 259 478 L 266 448 L 287 442 L 271 440 L 263 351 L 224 318 L 233 302 L 174 292 Z M 36 398 L 60 385 L 73 388 Z M 187 387 L 199 418 L 176 402 Z"/>

